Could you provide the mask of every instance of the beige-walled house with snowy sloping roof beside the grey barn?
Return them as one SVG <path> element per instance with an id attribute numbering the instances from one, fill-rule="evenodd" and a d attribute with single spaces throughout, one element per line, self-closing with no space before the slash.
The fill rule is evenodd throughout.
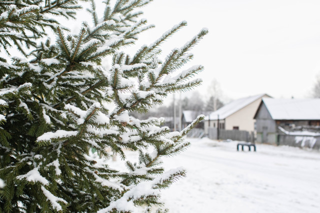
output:
<path id="1" fill-rule="evenodd" d="M 270 98 L 267 94 L 249 96 L 232 101 L 220 109 L 212 112 L 204 119 L 204 133 L 208 128 L 225 130 L 254 131 L 253 119 L 262 98 Z"/>

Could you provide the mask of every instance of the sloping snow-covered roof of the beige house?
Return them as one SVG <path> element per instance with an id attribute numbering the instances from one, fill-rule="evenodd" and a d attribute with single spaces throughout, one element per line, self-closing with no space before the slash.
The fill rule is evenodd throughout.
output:
<path id="1" fill-rule="evenodd" d="M 235 101 L 232 101 L 220 109 L 212 112 L 210 115 L 205 117 L 205 120 L 217 120 L 218 115 L 219 119 L 225 119 L 226 117 L 232 115 L 233 113 L 239 111 L 243 107 L 249 105 L 250 103 L 256 101 L 259 98 L 262 98 L 266 94 L 259 94 L 259 95 L 254 95 L 254 96 L 249 96 L 245 98 L 240 98 Z"/>

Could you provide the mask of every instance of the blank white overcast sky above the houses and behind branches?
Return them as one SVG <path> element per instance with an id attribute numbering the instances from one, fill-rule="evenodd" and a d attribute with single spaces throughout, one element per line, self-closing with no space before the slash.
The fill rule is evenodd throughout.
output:
<path id="1" fill-rule="evenodd" d="M 97 9 L 102 12 L 104 4 L 98 3 Z M 125 50 L 132 54 L 181 20 L 188 26 L 162 46 L 164 53 L 183 45 L 201 28 L 209 29 L 193 48 L 189 64 L 204 65 L 199 74 L 203 85 L 198 87 L 203 98 L 208 97 L 213 78 L 220 83 L 224 100 L 259 93 L 310 97 L 320 71 L 319 0 L 154 0 L 142 10 L 155 28 Z M 68 25 L 75 33 L 81 20 L 91 20 L 87 12 L 78 17 L 78 23 Z"/>

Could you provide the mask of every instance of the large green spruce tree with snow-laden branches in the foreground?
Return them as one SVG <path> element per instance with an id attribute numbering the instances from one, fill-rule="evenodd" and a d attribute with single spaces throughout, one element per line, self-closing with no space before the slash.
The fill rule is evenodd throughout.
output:
<path id="1" fill-rule="evenodd" d="M 164 61 L 159 45 L 186 25 L 182 21 L 135 55 L 121 52 L 137 34 L 152 26 L 135 11 L 150 0 L 106 0 L 103 17 L 92 3 L 93 24 L 83 23 L 77 35 L 66 35 L 50 14 L 73 17 L 77 0 L 0 1 L 0 212 L 161 212 L 159 191 L 185 175 L 164 171 L 160 158 L 173 156 L 189 143 L 185 134 L 160 127 L 163 119 L 137 120 L 129 112 L 147 112 L 169 93 L 185 91 L 202 66 L 179 68 L 201 30 Z M 56 32 L 56 42 L 36 45 Z M 35 47 L 28 59 L 4 59 L 5 49 Z M 110 56 L 111 68 L 101 66 Z M 112 59 L 111 59 L 112 58 Z M 89 155 L 94 148 L 97 155 Z M 123 149 L 139 153 L 125 162 Z M 111 150 L 107 152 L 106 150 Z M 118 154 L 127 171 L 110 168 Z"/>

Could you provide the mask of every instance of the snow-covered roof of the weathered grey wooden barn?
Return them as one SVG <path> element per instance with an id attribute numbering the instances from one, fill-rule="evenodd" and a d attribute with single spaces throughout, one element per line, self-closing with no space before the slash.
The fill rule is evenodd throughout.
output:
<path id="1" fill-rule="evenodd" d="M 274 120 L 320 120 L 320 99 L 262 98 Z"/>

